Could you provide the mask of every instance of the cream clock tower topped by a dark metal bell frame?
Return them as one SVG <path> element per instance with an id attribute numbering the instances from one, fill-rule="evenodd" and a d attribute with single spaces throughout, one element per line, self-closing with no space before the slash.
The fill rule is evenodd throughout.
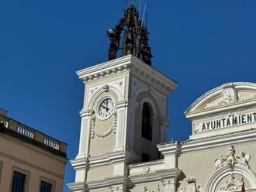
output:
<path id="1" fill-rule="evenodd" d="M 109 61 L 77 72 L 85 97 L 72 191 L 128 191 L 130 164 L 161 159 L 157 144 L 167 142 L 168 94 L 178 84 L 151 67 L 147 28 L 133 5 L 108 36 Z"/>

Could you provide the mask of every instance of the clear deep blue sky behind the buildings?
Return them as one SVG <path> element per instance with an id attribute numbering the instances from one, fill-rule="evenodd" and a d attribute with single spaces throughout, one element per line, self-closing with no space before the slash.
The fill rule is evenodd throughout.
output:
<path id="1" fill-rule="evenodd" d="M 0 0 L 0 108 L 67 142 L 69 159 L 78 153 L 84 96 L 75 71 L 107 60 L 106 30 L 126 6 Z M 168 139 L 186 140 L 192 126 L 184 111 L 200 95 L 227 82 L 256 83 L 256 1 L 147 0 L 146 8 L 152 65 L 179 84 L 168 98 Z M 67 163 L 65 192 L 73 181 Z"/>

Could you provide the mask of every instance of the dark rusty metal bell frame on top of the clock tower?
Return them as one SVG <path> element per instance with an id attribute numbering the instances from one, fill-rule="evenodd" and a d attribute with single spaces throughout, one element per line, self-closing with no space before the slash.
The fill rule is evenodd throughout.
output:
<path id="1" fill-rule="evenodd" d="M 149 33 L 134 5 L 130 5 L 124 11 L 123 18 L 113 29 L 108 29 L 107 35 L 110 39 L 109 60 L 116 59 L 120 50 L 122 51 L 121 57 L 133 54 L 151 66 Z"/>

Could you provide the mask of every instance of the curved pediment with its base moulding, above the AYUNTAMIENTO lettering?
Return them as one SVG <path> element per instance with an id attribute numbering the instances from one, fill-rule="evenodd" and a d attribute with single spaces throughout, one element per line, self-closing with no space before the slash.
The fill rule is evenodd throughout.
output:
<path id="1" fill-rule="evenodd" d="M 223 111 L 232 111 L 236 108 L 255 106 L 254 101 L 256 102 L 256 84 L 227 83 L 202 94 L 185 111 L 185 115 L 187 118 L 199 118 Z"/>

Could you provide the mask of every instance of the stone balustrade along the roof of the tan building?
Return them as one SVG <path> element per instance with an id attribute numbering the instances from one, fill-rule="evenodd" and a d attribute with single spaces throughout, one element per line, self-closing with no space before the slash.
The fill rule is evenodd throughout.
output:
<path id="1" fill-rule="evenodd" d="M 2 125 L 3 132 L 9 133 L 9 135 L 19 137 L 19 139 L 31 142 L 36 146 L 43 147 L 50 152 L 57 155 L 66 157 L 67 144 L 57 139 L 45 135 L 42 132 L 32 129 L 26 125 L 23 125 L 12 118 L 0 115 L 0 124 Z"/>

